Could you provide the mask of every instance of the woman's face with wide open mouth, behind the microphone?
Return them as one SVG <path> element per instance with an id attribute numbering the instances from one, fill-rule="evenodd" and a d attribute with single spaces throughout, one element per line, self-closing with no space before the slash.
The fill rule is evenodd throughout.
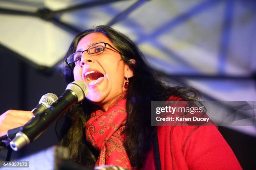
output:
<path id="1" fill-rule="evenodd" d="M 92 44 L 106 42 L 117 49 L 102 33 L 90 33 L 78 43 L 76 51 L 87 50 Z M 102 110 L 108 110 L 113 101 L 124 92 L 125 77 L 133 73 L 122 60 L 121 55 L 106 45 L 104 52 L 90 55 L 83 52 L 82 59 L 74 67 L 74 80 L 82 80 L 88 86 L 86 98 Z"/>

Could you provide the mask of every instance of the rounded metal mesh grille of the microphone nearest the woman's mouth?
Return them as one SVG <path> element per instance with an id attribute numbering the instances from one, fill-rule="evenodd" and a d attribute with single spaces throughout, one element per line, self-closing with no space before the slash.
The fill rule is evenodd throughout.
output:
<path id="1" fill-rule="evenodd" d="M 77 102 L 84 100 L 84 97 L 87 95 L 88 92 L 87 85 L 81 80 L 69 83 L 66 90 L 72 90 L 77 95 Z"/>

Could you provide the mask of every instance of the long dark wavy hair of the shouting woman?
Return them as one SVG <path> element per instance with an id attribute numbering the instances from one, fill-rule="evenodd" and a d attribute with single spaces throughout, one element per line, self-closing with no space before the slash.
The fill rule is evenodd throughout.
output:
<path id="1" fill-rule="evenodd" d="M 148 66 L 142 52 L 127 36 L 108 26 L 100 25 L 95 29 L 80 32 L 71 43 L 64 60 L 74 53 L 79 40 L 85 35 L 100 32 L 117 47 L 125 63 L 133 68 L 126 95 L 127 122 L 125 127 L 125 148 L 133 167 L 141 168 L 151 147 L 156 127 L 151 126 L 151 101 L 168 100 L 171 95 L 184 100 L 194 100 L 197 92 L 190 87 L 170 87 L 156 71 Z M 136 64 L 129 60 L 136 60 Z M 74 81 L 73 70 L 62 63 L 62 75 L 67 83 Z M 86 106 L 86 107 L 85 107 Z M 71 150 L 73 162 L 93 166 L 97 160 L 97 150 L 87 143 L 84 126 L 90 118 L 92 104 L 86 99 L 82 105 L 74 105 L 64 115 L 61 125 L 61 145 Z"/>

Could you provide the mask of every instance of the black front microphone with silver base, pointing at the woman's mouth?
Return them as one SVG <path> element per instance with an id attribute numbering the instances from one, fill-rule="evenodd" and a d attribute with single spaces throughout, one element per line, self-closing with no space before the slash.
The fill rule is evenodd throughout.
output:
<path id="1" fill-rule="evenodd" d="M 34 117 L 23 126 L 23 130 L 19 131 L 10 142 L 10 147 L 17 151 L 23 148 L 23 146 L 30 144 L 69 107 L 84 100 L 87 91 L 87 85 L 81 80 L 69 83 L 64 93 L 56 102 L 43 113 L 34 115 Z"/>

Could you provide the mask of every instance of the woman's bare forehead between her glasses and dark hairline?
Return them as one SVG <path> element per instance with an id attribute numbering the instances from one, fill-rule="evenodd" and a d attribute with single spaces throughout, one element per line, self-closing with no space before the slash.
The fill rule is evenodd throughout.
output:
<path id="1" fill-rule="evenodd" d="M 106 37 L 102 33 L 95 32 L 95 33 L 90 33 L 90 34 L 82 37 L 82 39 L 77 44 L 77 50 L 87 49 L 91 45 L 98 43 L 98 42 L 107 42 L 107 43 L 111 44 L 108 37 Z"/>

